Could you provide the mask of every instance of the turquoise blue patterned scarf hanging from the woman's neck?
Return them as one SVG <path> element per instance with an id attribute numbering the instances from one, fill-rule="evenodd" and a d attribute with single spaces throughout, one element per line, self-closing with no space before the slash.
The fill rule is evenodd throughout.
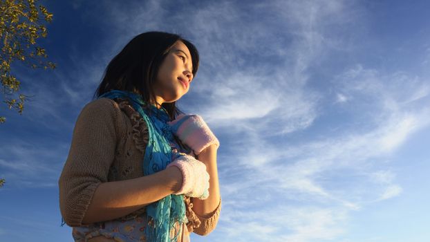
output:
<path id="1" fill-rule="evenodd" d="M 100 95 L 98 98 L 102 97 L 129 99 L 133 109 L 138 111 L 147 123 L 149 142 L 142 160 L 144 176 L 166 169 L 166 166 L 177 156 L 176 153 L 172 153 L 172 147 L 175 147 L 178 151 L 188 152 L 187 148 L 184 150 L 174 139 L 174 134 L 169 124 L 167 124 L 170 121 L 169 115 L 164 108 L 157 109 L 155 105 L 151 104 L 149 110 L 142 109 L 142 105 L 146 103 L 142 96 L 127 91 L 113 90 Z M 169 234 L 174 225 L 180 228 L 182 223 L 187 223 L 184 196 L 182 194 L 170 194 L 147 205 L 147 221 L 149 223 L 144 230 L 147 241 L 177 241 L 179 230 L 175 231 L 174 238 L 170 238 Z"/>

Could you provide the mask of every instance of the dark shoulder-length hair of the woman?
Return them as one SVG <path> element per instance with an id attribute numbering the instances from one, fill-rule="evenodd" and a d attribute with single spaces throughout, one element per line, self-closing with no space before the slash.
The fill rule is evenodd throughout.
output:
<path id="1" fill-rule="evenodd" d="M 144 32 L 133 37 L 109 62 L 93 98 L 115 89 L 138 93 L 145 102 L 156 103 L 153 84 L 156 82 L 160 65 L 176 41 L 182 41 L 189 49 L 193 66 L 191 73 L 196 77 L 199 55 L 194 44 L 169 32 Z M 183 113 L 176 107 L 176 102 L 165 102 L 162 107 L 169 113 L 170 120 Z"/>

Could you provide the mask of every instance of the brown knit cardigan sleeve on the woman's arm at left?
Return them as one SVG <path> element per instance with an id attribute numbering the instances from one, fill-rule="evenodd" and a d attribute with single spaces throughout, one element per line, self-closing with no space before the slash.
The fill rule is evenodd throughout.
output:
<path id="1" fill-rule="evenodd" d="M 95 189 L 107 182 L 115 158 L 120 109 L 100 98 L 84 106 L 75 123 L 71 148 L 59 177 L 59 207 L 64 222 L 81 226 Z M 118 105 L 116 105 L 118 106 Z"/>

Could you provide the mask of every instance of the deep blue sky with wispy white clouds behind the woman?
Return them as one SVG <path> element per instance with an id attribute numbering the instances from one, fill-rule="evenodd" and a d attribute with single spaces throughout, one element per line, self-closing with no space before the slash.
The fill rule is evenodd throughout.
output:
<path id="1" fill-rule="evenodd" d="M 77 115 L 140 32 L 200 51 L 178 102 L 221 142 L 223 207 L 192 241 L 429 241 L 428 1 L 43 1 L 55 71 L 0 107 L 0 241 L 72 241 L 57 180 Z"/>

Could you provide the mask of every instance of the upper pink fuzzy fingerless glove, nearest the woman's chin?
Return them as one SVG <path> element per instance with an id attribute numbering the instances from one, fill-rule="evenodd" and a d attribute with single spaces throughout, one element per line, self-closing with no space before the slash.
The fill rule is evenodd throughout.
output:
<path id="1" fill-rule="evenodd" d="M 212 133 L 200 115 L 180 114 L 175 120 L 167 122 L 167 124 L 169 124 L 176 136 L 185 145 L 188 145 L 196 155 L 209 147 L 209 145 L 219 147 L 218 138 Z"/>

